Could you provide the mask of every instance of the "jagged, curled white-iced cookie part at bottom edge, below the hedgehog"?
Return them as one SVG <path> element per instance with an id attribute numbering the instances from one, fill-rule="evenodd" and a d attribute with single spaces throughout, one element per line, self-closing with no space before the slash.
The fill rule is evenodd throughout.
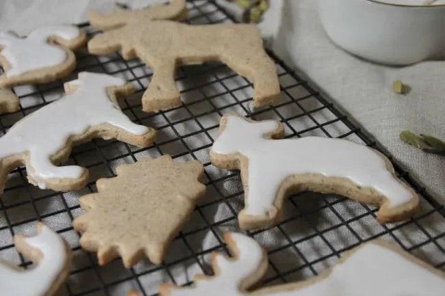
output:
<path id="1" fill-rule="evenodd" d="M 195 284 L 190 288 L 162 284 L 160 295 L 209 295 L 207 294 L 209 291 L 212 291 L 213 296 L 240 295 L 240 292 L 246 292 L 249 287 L 261 279 L 268 267 L 267 256 L 263 248 L 254 239 L 240 233 L 226 233 L 224 239 L 233 258 L 213 252 L 214 276 L 196 275 Z"/>

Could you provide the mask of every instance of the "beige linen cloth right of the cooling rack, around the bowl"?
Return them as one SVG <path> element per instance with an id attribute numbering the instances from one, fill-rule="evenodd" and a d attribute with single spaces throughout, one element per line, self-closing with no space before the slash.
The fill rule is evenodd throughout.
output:
<path id="1" fill-rule="evenodd" d="M 435 198 L 445 202 L 445 158 L 416 150 L 398 138 L 401 130 L 409 129 L 445 139 L 445 62 L 391 68 L 353 57 L 327 39 L 314 0 L 284 2 L 273 49 L 320 85 Z M 412 89 L 406 96 L 392 91 L 392 81 L 399 79 Z"/>

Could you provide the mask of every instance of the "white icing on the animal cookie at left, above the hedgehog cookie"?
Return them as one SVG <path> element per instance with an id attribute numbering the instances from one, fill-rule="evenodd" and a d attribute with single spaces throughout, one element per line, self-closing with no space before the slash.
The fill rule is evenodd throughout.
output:
<path id="1" fill-rule="evenodd" d="M 105 123 L 134 135 L 149 131 L 147 126 L 131 122 L 107 95 L 107 87 L 125 85 L 124 79 L 82 72 L 79 79 L 70 83 L 79 85 L 75 92 L 19 120 L 0 138 L 0 159 L 29 151 L 33 172 L 28 174 L 40 178 L 79 178 L 81 167 L 57 167 L 50 161 L 53 154 L 66 146 L 68 137 Z"/>

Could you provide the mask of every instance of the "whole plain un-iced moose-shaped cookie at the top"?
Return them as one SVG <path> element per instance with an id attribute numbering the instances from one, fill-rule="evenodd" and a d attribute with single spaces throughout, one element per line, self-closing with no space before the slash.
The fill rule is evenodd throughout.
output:
<path id="1" fill-rule="evenodd" d="M 277 69 L 262 45 L 255 25 L 186 25 L 173 21 L 183 14 L 185 0 L 156 5 L 147 10 L 120 10 L 90 16 L 93 27 L 105 29 L 88 42 L 88 51 L 102 55 L 121 50 L 124 59 L 140 57 L 153 68 L 153 77 L 142 96 L 144 111 L 170 109 L 181 104 L 175 85 L 179 65 L 220 60 L 253 81 L 253 106 L 276 103 Z"/>

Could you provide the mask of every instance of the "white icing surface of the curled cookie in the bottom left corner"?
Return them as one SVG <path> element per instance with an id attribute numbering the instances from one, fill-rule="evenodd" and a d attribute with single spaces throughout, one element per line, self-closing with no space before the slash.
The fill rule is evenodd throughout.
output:
<path id="1" fill-rule="evenodd" d="M 66 250 L 63 239 L 47 226 L 35 237 L 24 239 L 27 245 L 38 249 L 42 259 L 36 267 L 17 270 L 0 261 L 1 296 L 44 296 L 57 280 L 66 263 Z"/>

